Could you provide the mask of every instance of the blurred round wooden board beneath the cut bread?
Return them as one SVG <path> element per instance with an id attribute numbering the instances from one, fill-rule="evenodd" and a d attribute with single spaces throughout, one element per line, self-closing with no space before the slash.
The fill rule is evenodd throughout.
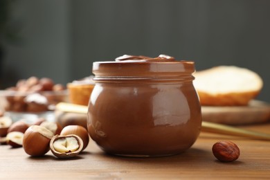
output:
<path id="1" fill-rule="evenodd" d="M 266 123 L 270 120 L 270 105 L 260 100 L 252 100 L 248 106 L 201 107 L 202 120 L 226 125 L 250 125 Z"/>

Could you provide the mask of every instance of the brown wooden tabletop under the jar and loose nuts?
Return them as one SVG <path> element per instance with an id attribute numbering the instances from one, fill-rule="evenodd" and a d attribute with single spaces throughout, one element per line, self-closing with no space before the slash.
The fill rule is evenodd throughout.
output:
<path id="1" fill-rule="evenodd" d="M 245 129 L 270 132 L 270 123 Z M 221 163 L 212 145 L 230 140 L 240 147 L 240 158 Z M 0 145 L 0 179 L 270 179 L 270 142 L 201 132 L 183 154 L 159 158 L 109 156 L 91 142 L 75 159 L 57 159 L 51 152 L 41 158 L 23 148 Z"/>

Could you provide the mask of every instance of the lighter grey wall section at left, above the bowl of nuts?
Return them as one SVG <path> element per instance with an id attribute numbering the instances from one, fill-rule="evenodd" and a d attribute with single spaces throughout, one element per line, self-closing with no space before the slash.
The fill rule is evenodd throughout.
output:
<path id="1" fill-rule="evenodd" d="M 21 24 L 20 44 L 7 44 L 3 78 L 14 84 L 19 78 L 69 80 L 70 13 L 64 0 L 18 0 L 13 3 L 12 19 Z"/>

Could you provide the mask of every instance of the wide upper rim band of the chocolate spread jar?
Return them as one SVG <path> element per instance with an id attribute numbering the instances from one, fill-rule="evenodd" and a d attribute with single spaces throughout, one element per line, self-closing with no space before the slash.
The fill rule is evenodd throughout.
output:
<path id="1" fill-rule="evenodd" d="M 138 56 L 136 56 L 138 57 Z M 143 56 L 144 57 L 144 56 Z M 195 62 L 165 58 L 93 62 L 96 77 L 175 77 L 195 72 Z"/>

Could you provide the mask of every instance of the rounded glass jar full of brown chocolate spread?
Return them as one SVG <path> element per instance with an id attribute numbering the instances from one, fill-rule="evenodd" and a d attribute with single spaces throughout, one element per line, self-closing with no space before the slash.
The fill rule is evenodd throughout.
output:
<path id="1" fill-rule="evenodd" d="M 194 62 L 168 55 L 123 55 L 93 62 L 96 83 L 87 128 L 102 150 L 120 156 L 168 156 L 188 150 L 201 129 Z"/>

